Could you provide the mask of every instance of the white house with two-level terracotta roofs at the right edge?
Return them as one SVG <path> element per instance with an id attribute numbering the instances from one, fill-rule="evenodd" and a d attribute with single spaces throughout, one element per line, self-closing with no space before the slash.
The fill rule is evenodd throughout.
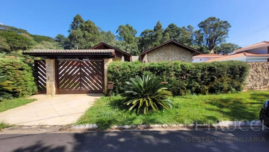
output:
<path id="1" fill-rule="evenodd" d="M 244 62 L 269 62 L 269 41 L 263 41 L 251 46 L 237 49 L 233 51 L 233 54 L 210 59 L 205 62 L 226 60 L 237 60 Z"/>

